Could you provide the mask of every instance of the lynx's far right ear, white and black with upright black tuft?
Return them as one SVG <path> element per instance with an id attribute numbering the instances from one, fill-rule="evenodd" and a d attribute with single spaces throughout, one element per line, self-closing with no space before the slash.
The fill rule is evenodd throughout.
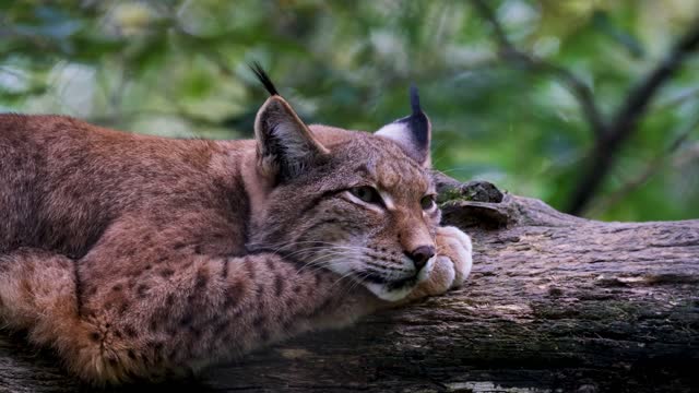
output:
<path id="1" fill-rule="evenodd" d="M 376 134 L 398 142 L 411 158 L 424 167 L 429 167 L 431 124 L 427 115 L 419 107 L 419 97 L 415 86 L 411 86 L 411 107 L 413 115 L 383 126 Z"/>

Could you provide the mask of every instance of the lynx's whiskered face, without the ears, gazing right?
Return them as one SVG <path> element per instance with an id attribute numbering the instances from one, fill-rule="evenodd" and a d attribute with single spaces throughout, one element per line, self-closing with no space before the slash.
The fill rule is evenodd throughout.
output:
<path id="1" fill-rule="evenodd" d="M 356 133 L 330 151 L 271 193 L 256 241 L 398 300 L 434 263 L 440 212 L 429 171 L 381 136 Z"/>

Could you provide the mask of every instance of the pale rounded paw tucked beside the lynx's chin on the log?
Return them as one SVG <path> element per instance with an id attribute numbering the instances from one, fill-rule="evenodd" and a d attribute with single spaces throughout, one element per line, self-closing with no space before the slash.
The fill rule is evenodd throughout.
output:
<path id="1" fill-rule="evenodd" d="M 440 295 L 463 284 L 471 273 L 471 238 L 455 227 L 437 229 L 437 257 L 428 278 L 420 283 L 412 298 Z"/>

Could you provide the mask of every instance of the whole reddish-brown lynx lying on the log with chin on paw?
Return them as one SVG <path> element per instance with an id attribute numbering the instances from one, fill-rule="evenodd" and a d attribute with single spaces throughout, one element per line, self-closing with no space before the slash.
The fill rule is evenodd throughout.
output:
<path id="1" fill-rule="evenodd" d="M 254 140 L 0 115 L 0 324 L 92 384 L 157 380 L 460 286 L 430 123 L 306 126 L 270 92 Z"/>

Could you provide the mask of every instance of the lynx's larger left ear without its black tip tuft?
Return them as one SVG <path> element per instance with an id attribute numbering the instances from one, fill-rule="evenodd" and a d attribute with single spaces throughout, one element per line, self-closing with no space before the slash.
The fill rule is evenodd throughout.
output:
<path id="1" fill-rule="evenodd" d="M 329 153 L 279 95 L 268 98 L 258 111 L 254 136 L 262 174 L 277 181 L 297 177 Z"/>

